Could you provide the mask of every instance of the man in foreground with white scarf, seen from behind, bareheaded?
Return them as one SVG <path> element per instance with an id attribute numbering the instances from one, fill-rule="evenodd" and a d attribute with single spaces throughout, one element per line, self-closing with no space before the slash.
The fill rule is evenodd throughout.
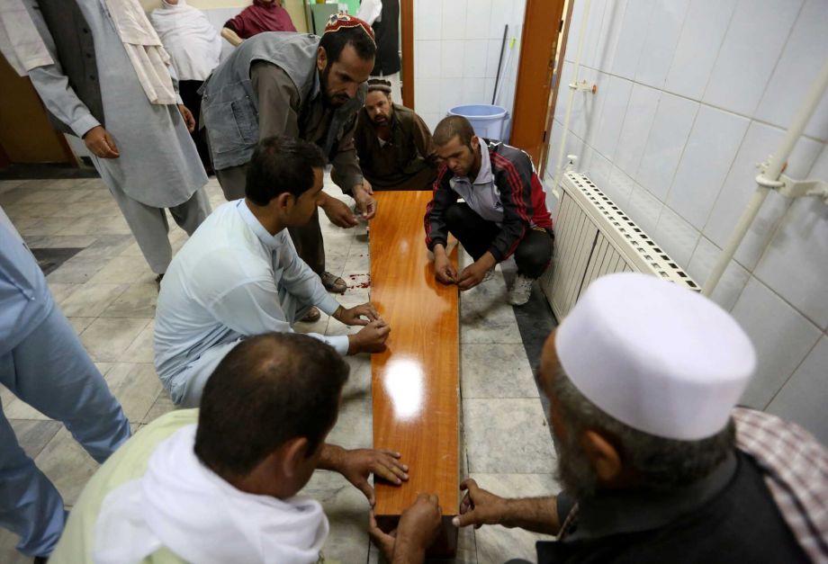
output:
<path id="1" fill-rule="evenodd" d="M 328 519 L 297 493 L 317 469 L 367 475 L 325 443 L 347 377 L 347 363 L 310 336 L 246 339 L 211 375 L 200 410 L 157 418 L 94 474 L 49 562 L 320 560 Z M 409 513 L 398 538 L 409 541 L 404 561 L 421 561 L 440 524 L 437 500 Z"/>

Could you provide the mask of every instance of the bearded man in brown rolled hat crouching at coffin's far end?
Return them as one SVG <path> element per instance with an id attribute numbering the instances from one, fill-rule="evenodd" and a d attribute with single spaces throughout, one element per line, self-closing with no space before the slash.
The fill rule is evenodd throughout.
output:
<path id="1" fill-rule="evenodd" d="M 431 131 L 413 110 L 393 103 L 391 90 L 382 78 L 368 81 L 354 133 L 359 166 L 374 190 L 430 190 L 437 175 Z"/>

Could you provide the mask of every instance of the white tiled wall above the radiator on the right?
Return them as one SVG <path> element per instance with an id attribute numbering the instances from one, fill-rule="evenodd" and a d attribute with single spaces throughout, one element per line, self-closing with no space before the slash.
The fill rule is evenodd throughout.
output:
<path id="1" fill-rule="evenodd" d="M 561 84 L 572 82 L 575 0 Z M 825 0 L 593 0 L 566 153 L 698 282 L 828 58 Z M 562 138 L 558 96 L 547 180 Z M 787 174 L 828 180 L 828 96 Z M 760 367 L 743 401 L 828 443 L 828 206 L 771 193 L 714 299 Z"/>

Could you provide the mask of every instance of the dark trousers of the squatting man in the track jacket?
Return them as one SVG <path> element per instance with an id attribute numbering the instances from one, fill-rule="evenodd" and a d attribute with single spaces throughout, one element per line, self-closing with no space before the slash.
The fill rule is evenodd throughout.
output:
<path id="1" fill-rule="evenodd" d="M 446 210 L 446 225 L 466 252 L 476 261 L 489 250 L 500 234 L 494 221 L 482 219 L 466 203 L 455 203 Z M 518 274 L 538 278 L 552 260 L 553 235 L 546 229 L 528 229 L 515 250 Z"/>

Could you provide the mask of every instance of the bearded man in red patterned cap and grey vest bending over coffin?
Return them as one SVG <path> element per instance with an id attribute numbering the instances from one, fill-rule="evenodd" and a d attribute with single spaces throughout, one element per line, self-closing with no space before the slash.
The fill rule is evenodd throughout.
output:
<path id="1" fill-rule="evenodd" d="M 375 53 L 368 24 L 345 14 L 332 16 L 321 38 L 264 32 L 241 43 L 202 87 L 202 123 L 225 197 L 244 197 L 247 162 L 259 139 L 299 137 L 322 149 L 334 183 L 356 200 L 362 219 L 372 219 L 376 201 L 359 169 L 354 130 Z M 320 207 L 339 227 L 357 224 L 347 205 L 328 194 Z M 346 282 L 325 271 L 318 211 L 307 226 L 290 228 L 290 235 L 325 287 L 345 292 Z M 311 310 L 306 320 L 319 316 Z"/>

